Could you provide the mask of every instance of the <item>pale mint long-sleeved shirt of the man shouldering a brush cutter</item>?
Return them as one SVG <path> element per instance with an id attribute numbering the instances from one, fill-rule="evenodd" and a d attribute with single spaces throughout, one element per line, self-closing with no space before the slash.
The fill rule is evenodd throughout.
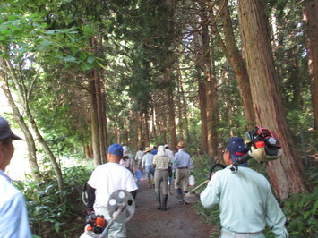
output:
<path id="1" fill-rule="evenodd" d="M 222 227 L 236 233 L 261 232 L 266 225 L 284 227 L 285 217 L 270 183 L 250 168 L 218 171 L 200 197 L 205 208 L 219 204 Z"/>

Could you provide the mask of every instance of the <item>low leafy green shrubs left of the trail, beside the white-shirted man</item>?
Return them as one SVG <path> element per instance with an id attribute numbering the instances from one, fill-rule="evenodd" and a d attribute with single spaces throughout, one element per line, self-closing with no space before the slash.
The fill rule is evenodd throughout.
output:
<path id="1" fill-rule="evenodd" d="M 73 230 L 81 230 L 84 205 L 82 204 L 82 186 L 89 179 L 90 166 L 64 167 L 63 200 L 53 171 L 41 173 L 40 180 L 31 175 L 26 180 L 15 182 L 23 192 L 27 203 L 32 234 L 39 236 L 69 236 Z"/>

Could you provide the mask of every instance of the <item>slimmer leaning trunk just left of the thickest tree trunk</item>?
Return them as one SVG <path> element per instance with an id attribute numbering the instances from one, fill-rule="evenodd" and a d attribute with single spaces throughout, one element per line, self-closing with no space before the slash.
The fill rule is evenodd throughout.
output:
<path id="1" fill-rule="evenodd" d="M 230 13 L 228 11 L 228 0 L 221 1 L 221 3 L 222 5 L 219 5 L 219 7 L 222 7 L 224 4 L 220 13 L 220 17 L 223 23 L 224 42 L 219 35 L 218 28 L 215 25 L 212 25 L 212 30 L 216 35 L 215 39 L 217 40 L 219 47 L 221 47 L 222 51 L 228 59 L 229 64 L 235 72 L 236 80 L 238 82 L 238 89 L 243 102 L 245 120 L 248 124 L 252 125 L 255 122 L 255 116 L 253 110 L 250 81 L 245 61 L 236 46 L 236 39 L 234 36 L 232 21 Z M 212 10 L 211 13 L 213 13 Z"/>

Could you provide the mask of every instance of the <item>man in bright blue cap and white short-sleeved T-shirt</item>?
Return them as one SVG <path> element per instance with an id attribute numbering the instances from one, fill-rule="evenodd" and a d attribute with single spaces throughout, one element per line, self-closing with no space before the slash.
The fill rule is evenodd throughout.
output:
<path id="1" fill-rule="evenodd" d="M 103 215 L 107 221 L 109 216 L 107 205 L 110 195 L 117 190 L 125 190 L 132 193 L 133 198 L 137 194 L 137 184 L 133 174 L 124 166 L 119 165 L 123 157 L 124 149 L 119 144 L 112 144 L 108 148 L 107 163 L 97 166 L 88 181 L 88 205 L 87 214 L 91 210 L 97 215 Z M 125 214 L 123 214 L 124 216 Z M 107 237 L 126 237 L 125 223 L 114 222 L 110 226 Z"/>

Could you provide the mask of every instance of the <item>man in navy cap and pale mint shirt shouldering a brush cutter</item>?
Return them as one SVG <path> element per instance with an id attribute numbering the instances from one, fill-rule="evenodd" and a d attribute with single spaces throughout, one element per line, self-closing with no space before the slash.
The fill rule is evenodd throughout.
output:
<path id="1" fill-rule="evenodd" d="M 233 137 L 228 140 L 224 162 L 229 166 L 247 152 L 244 140 Z M 270 183 L 246 165 L 240 165 L 236 173 L 226 168 L 213 174 L 200 199 L 205 208 L 219 204 L 222 238 L 264 238 L 262 231 L 266 226 L 276 237 L 288 237 L 286 218 Z"/>

